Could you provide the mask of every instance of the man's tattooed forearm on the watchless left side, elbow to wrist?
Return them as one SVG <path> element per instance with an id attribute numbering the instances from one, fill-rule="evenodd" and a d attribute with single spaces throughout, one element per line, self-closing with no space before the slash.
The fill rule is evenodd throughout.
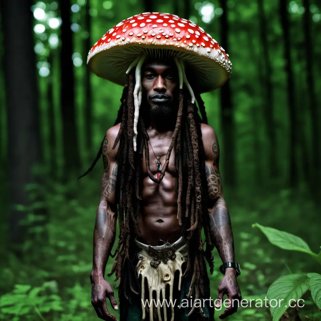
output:
<path id="1" fill-rule="evenodd" d="M 92 274 L 99 278 L 104 277 L 108 256 L 115 242 L 116 221 L 116 211 L 103 197 L 97 209 L 93 247 Z"/>

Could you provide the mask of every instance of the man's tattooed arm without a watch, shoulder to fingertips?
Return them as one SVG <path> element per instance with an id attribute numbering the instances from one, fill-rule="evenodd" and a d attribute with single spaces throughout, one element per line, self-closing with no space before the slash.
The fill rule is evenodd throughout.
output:
<path id="1" fill-rule="evenodd" d="M 90 274 L 92 284 L 91 302 L 98 317 L 103 320 L 116 320 L 109 314 L 106 297 L 112 307 L 117 310 L 117 302 L 111 285 L 105 281 L 105 268 L 110 251 L 115 242 L 117 207 L 115 205 L 115 189 L 117 179 L 116 151 L 112 150 L 115 139 L 113 130 L 108 130 L 103 142 L 102 158 L 104 172 L 101 181 L 101 197 L 94 227 L 93 267 Z"/>

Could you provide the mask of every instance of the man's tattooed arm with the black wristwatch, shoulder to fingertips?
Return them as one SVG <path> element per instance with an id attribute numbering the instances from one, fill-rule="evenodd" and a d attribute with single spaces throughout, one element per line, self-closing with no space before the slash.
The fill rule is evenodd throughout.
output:
<path id="1" fill-rule="evenodd" d="M 216 134 L 210 126 L 202 124 L 202 136 L 205 152 L 205 172 L 208 186 L 208 213 L 210 216 L 210 232 L 213 244 L 221 257 L 222 263 L 235 262 L 234 240 L 230 214 L 222 194 L 222 180 L 219 170 L 220 148 Z M 227 268 L 218 287 L 218 302 L 216 308 L 220 308 L 221 300 L 225 293 L 230 301 L 241 299 L 241 292 L 237 282 L 237 272 L 233 268 Z M 237 304 L 230 305 L 221 315 L 223 319 L 236 312 Z"/>

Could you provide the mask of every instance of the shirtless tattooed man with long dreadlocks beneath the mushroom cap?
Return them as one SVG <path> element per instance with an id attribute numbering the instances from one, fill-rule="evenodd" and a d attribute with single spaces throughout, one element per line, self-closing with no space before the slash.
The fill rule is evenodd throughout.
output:
<path id="1" fill-rule="evenodd" d="M 138 224 L 131 224 L 131 232 L 130 232 L 130 242 L 136 237 L 139 242 L 153 247 L 161 246 L 165 243 L 173 244 L 175 241 L 179 239 L 179 237 L 186 238 L 188 235 L 187 229 L 191 227 L 192 222 L 190 222 L 189 218 L 185 218 L 186 208 L 189 206 L 186 204 L 185 198 L 181 197 L 178 200 L 178 194 L 188 193 L 187 185 L 188 180 L 182 183 L 178 183 L 178 174 L 176 168 L 179 168 L 179 164 L 175 162 L 177 153 L 182 151 L 185 140 L 183 140 L 183 130 L 181 132 L 181 146 L 177 148 L 177 140 L 175 141 L 175 146 L 170 152 L 168 167 L 166 169 L 166 175 L 161 175 L 161 169 L 163 164 L 166 162 L 166 154 L 168 153 L 169 147 L 172 143 L 173 133 L 175 131 L 175 126 L 177 123 L 178 113 L 179 113 L 179 88 L 178 88 L 178 70 L 174 63 L 174 61 L 166 61 L 160 59 L 149 59 L 143 65 L 142 73 L 142 86 L 143 86 L 143 95 L 142 95 L 142 106 L 140 114 L 143 114 L 143 122 L 145 124 L 146 132 L 149 136 L 149 140 L 146 140 L 148 144 L 149 151 L 149 160 L 148 164 L 145 160 L 145 152 L 146 149 L 143 150 L 143 156 L 141 160 L 141 172 L 139 174 L 140 179 L 140 215 L 137 219 Z M 129 80 L 130 82 L 130 80 Z M 130 91 L 130 86 L 127 83 L 127 87 L 129 87 L 128 91 Z M 186 91 L 185 91 L 186 94 Z M 123 96 L 126 93 L 123 93 Z M 122 98 L 122 102 L 124 104 L 124 97 Z M 129 103 L 129 102 L 128 102 Z M 183 110 L 189 104 L 186 100 L 184 100 Z M 125 105 L 126 108 L 126 105 Z M 185 116 L 184 116 L 185 113 Z M 186 122 L 189 116 L 186 116 L 187 109 L 183 111 L 183 116 L 181 118 L 182 126 L 184 128 L 190 128 L 190 133 L 192 133 L 192 125 L 188 123 L 186 126 Z M 120 114 L 118 114 L 119 116 Z M 121 117 L 121 115 L 119 116 Z M 239 266 L 235 264 L 234 258 L 234 246 L 233 246 L 233 236 L 232 229 L 230 223 L 230 215 L 222 194 L 222 186 L 221 186 L 221 177 L 219 172 L 219 145 L 217 141 L 216 134 L 212 127 L 202 123 L 200 117 L 196 115 L 193 116 L 195 118 L 195 122 L 198 123 L 202 138 L 200 139 L 201 145 L 200 149 L 204 150 L 203 159 L 199 154 L 199 162 L 204 162 L 204 173 L 201 172 L 201 180 L 202 173 L 205 174 L 205 185 L 207 181 L 207 190 L 208 195 L 201 195 L 201 197 L 205 197 L 207 204 L 207 215 L 208 221 L 203 219 L 203 228 L 209 227 L 209 235 L 210 239 L 208 242 L 212 242 L 212 245 L 217 248 L 217 251 L 221 257 L 222 263 L 227 263 L 221 268 L 221 272 L 224 276 L 221 279 L 220 285 L 218 287 L 218 299 L 222 299 L 223 295 L 227 295 L 230 300 L 233 299 L 241 299 L 241 293 L 239 290 L 237 276 L 239 274 Z M 123 118 L 124 119 L 124 118 Z M 203 117 L 204 119 L 204 117 Z M 117 301 L 114 297 L 114 291 L 105 279 L 105 267 L 108 260 L 108 257 L 111 253 L 111 249 L 113 247 L 115 237 L 116 237 L 116 225 L 117 225 L 117 204 L 119 203 L 119 196 L 117 193 L 120 192 L 120 188 L 118 187 L 119 181 L 121 180 L 119 173 L 119 162 L 121 159 L 117 158 L 117 152 L 119 149 L 119 144 L 121 143 L 122 137 L 120 138 L 120 142 L 117 143 L 116 147 L 113 149 L 113 144 L 115 139 L 117 138 L 117 134 L 121 127 L 121 119 L 118 119 L 119 123 L 110 129 L 108 129 L 103 146 L 102 146 L 102 155 L 103 155 L 103 163 L 104 163 L 104 171 L 102 176 L 102 192 L 100 203 L 97 210 L 96 216 L 96 224 L 94 228 L 94 248 L 93 248 L 93 268 L 91 272 L 91 283 L 92 283 L 92 305 L 95 308 L 95 311 L 103 320 L 115 320 L 115 317 L 108 312 L 106 298 L 110 301 L 111 307 L 114 310 L 118 310 Z M 185 123 L 184 123 L 185 122 Z M 185 124 L 185 125 L 184 125 Z M 192 124 L 192 123 L 191 123 Z M 199 135 L 199 134 L 198 134 Z M 137 136 L 137 151 L 140 150 L 140 139 L 143 137 L 138 134 Z M 192 145 L 192 144 L 191 144 Z M 193 145 L 194 146 L 194 145 Z M 124 147 L 122 147 L 123 149 Z M 188 148 L 187 148 L 188 149 Z M 121 153 L 120 151 L 119 153 Z M 118 154 L 119 154 L 118 153 Z M 195 159 L 195 158 L 194 158 Z M 117 162 L 116 162 L 117 161 Z M 183 160 L 182 160 L 183 161 Z M 178 162 L 179 163 L 179 162 Z M 202 165 L 202 164 L 201 164 Z M 197 164 L 189 164 L 188 166 L 196 166 L 196 170 L 202 166 L 197 166 Z M 123 165 L 122 165 L 123 166 Z M 127 165 L 128 171 L 130 170 L 130 164 Z M 135 165 L 136 166 L 136 165 Z M 150 168 L 150 172 L 152 176 L 155 178 L 151 179 L 148 173 L 148 167 Z M 185 167 L 182 165 L 182 172 L 184 172 Z M 186 165 L 187 167 L 187 165 Z M 193 168 L 193 167 L 190 167 Z M 204 169 L 205 168 L 205 169 Z M 137 168 L 135 168 L 137 170 Z M 117 175 L 118 172 L 118 175 Z M 195 172 L 196 173 L 196 172 Z M 196 174 L 194 175 L 197 177 Z M 156 182 L 157 178 L 161 178 L 160 182 Z M 124 183 L 125 184 L 125 183 Z M 123 186 L 124 186 L 123 184 Z M 181 190 L 180 190 L 181 189 Z M 194 190 L 195 188 L 192 189 Z M 197 188 L 196 188 L 197 189 Z M 192 193 L 192 192 L 191 192 Z M 134 192 L 135 194 L 135 192 Z M 197 193 L 195 192 L 197 195 Z M 197 196 L 196 196 L 197 198 Z M 180 205 L 179 205 L 180 204 Z M 182 215 L 181 221 L 178 219 L 178 207 L 182 207 Z M 195 205 L 196 206 L 196 205 Z M 195 210 L 196 211 L 196 210 Z M 206 209 L 205 209 L 206 212 Z M 195 212 L 196 213 L 196 212 Z M 196 215 L 196 214 L 195 214 Z M 134 219 L 133 219 L 134 221 Z M 206 224 L 208 223 L 208 225 Z M 122 221 L 122 228 L 124 229 L 124 220 Z M 187 224 L 187 226 L 185 226 Z M 198 223 L 200 224 L 200 223 Z M 139 229 L 138 229 L 139 227 Z M 196 230 L 195 230 L 196 231 Z M 196 233 L 196 232 L 195 232 Z M 195 235 L 194 233 L 194 235 Z M 122 234 L 123 236 L 126 234 Z M 193 239 L 193 244 L 189 245 L 190 247 L 195 247 L 195 239 Z M 197 242 L 198 239 L 196 238 Z M 125 243 L 125 241 L 124 241 Z M 138 243 L 136 243 L 138 244 Z M 197 248 L 198 244 L 195 248 Z M 124 247 L 124 245 L 123 245 Z M 132 252 L 131 250 L 134 247 L 129 247 L 129 260 L 132 266 L 135 266 L 138 262 L 136 258 L 138 252 Z M 138 247 L 137 247 L 138 248 Z M 212 247 L 213 248 L 213 247 Z M 210 248 L 211 249 L 211 248 Z M 118 250 L 118 252 L 121 250 Z M 125 253 L 125 252 L 124 252 Z M 141 252 L 142 253 L 142 252 Z M 190 253 L 190 252 L 189 252 Z M 190 254 L 189 254 L 190 255 Z M 126 255 L 125 255 L 126 256 Z M 133 261 L 134 260 L 134 261 Z M 183 259 L 182 259 L 183 260 Z M 187 260 L 187 259 L 186 259 Z M 134 263 L 133 263 L 134 262 Z M 155 261 L 156 262 L 156 261 Z M 170 262 L 170 259 L 169 259 Z M 194 258 L 191 259 L 191 262 L 194 262 Z M 165 263 L 161 263 L 164 265 Z M 203 263 L 204 264 L 204 263 Z M 161 266 L 160 265 L 160 266 Z M 124 268 L 123 263 L 123 269 Z M 227 267 L 226 267 L 227 266 Z M 229 267 L 231 266 L 231 267 Z M 159 267 L 156 267 L 156 269 Z M 186 268 L 183 266 L 183 272 Z M 155 269 L 155 267 L 153 267 Z M 193 274 L 195 267 L 191 270 L 191 274 Z M 115 270 L 115 269 L 114 269 Z M 198 271 L 199 272 L 199 271 Z M 121 284 L 123 282 L 123 276 L 126 278 L 124 273 L 131 273 L 127 270 L 127 272 L 122 271 L 123 274 L 121 279 Z M 137 276 L 137 270 L 134 271 Z M 190 274 L 190 275 L 191 275 Z M 151 277 L 152 278 L 152 277 Z M 200 273 L 196 276 L 197 280 L 204 279 L 204 296 L 209 298 L 209 283 L 206 273 L 206 265 L 204 265 L 203 274 Z M 195 281 L 196 283 L 198 281 Z M 190 279 L 189 279 L 190 281 Z M 124 281 L 125 282 L 125 281 Z M 184 277 L 182 278 L 182 284 L 184 282 Z M 195 287 L 197 286 L 195 283 Z M 125 284 L 125 283 L 124 283 Z M 139 284 L 139 282 L 137 283 Z M 198 283 L 199 284 L 199 283 Z M 189 284 L 188 284 L 189 285 Z M 123 285 L 123 287 L 128 288 L 128 283 Z M 195 287 L 193 289 L 195 289 Z M 120 285 L 119 290 L 126 291 L 128 289 L 123 289 L 122 285 Z M 136 288 L 137 290 L 137 288 Z M 136 291 L 135 290 L 135 291 Z M 135 292 L 134 291 L 134 292 Z M 141 291 L 141 289 L 140 289 Z M 140 292 L 137 290 L 137 292 Z M 182 290 L 183 291 L 183 290 Z M 187 287 L 188 291 L 188 287 Z M 195 297 L 195 292 L 192 293 Z M 126 296 L 120 295 L 120 320 L 142 320 L 141 310 L 140 314 L 136 318 L 136 312 L 141 309 L 140 306 L 140 295 L 137 296 L 137 304 L 138 308 L 133 312 L 130 310 L 132 305 L 134 305 L 134 297 L 135 294 L 131 294 L 132 298 L 131 303 L 127 301 Z M 122 301 L 124 300 L 124 302 Z M 221 303 L 219 300 L 216 300 L 216 308 L 219 308 Z M 122 313 L 122 309 L 126 310 L 126 313 Z M 193 312 L 190 318 L 185 315 L 175 315 L 175 320 L 213 320 L 213 310 L 210 308 L 203 308 L 203 314 L 199 314 L 196 312 L 197 309 Z M 205 311 L 206 310 L 206 311 Z M 223 319 L 237 310 L 237 305 L 230 305 L 226 308 L 221 314 L 220 319 Z M 212 312 L 211 312 L 212 311 Z M 135 314 L 136 313 L 136 314 Z M 154 312 L 155 313 L 155 312 Z M 176 312 L 175 312 L 176 313 Z M 134 317 L 135 316 L 135 317 Z M 179 317 L 178 317 L 179 316 Z M 155 320 L 155 315 L 154 315 Z"/>

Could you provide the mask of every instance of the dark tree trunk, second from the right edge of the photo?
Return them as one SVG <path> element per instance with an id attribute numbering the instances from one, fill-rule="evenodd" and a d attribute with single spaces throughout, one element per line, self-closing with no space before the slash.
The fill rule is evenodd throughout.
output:
<path id="1" fill-rule="evenodd" d="M 280 16 L 281 25 L 283 30 L 283 45 L 284 45 L 284 60 L 285 72 L 287 76 L 287 96 L 288 96 L 288 109 L 290 117 L 290 160 L 289 160 L 289 184 L 294 188 L 298 183 L 298 166 L 297 166 L 297 144 L 298 144 L 298 122 L 296 115 L 296 106 L 294 98 L 294 76 L 291 63 L 291 46 L 290 46 L 290 30 L 289 30 L 289 14 L 288 14 L 288 1 L 280 0 Z"/>

